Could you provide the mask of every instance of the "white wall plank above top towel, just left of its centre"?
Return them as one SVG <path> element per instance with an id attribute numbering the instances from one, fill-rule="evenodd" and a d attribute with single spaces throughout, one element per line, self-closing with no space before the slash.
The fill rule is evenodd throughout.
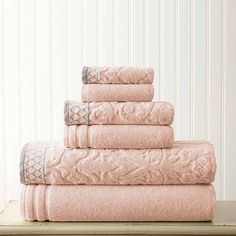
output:
<path id="1" fill-rule="evenodd" d="M 100 0 L 100 65 L 113 65 L 113 1 Z"/>

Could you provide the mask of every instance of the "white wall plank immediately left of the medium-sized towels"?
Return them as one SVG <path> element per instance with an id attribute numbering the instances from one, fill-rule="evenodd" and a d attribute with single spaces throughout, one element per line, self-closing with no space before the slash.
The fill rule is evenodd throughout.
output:
<path id="1" fill-rule="evenodd" d="M 53 97 L 54 97 L 54 139 L 63 138 L 63 104 L 68 95 L 67 78 L 67 4 L 66 0 L 53 0 Z"/>

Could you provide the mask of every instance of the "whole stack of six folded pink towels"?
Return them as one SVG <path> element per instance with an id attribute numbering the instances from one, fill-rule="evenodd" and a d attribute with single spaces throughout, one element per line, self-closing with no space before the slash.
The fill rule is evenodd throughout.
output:
<path id="1" fill-rule="evenodd" d="M 174 141 L 174 109 L 151 102 L 153 78 L 151 68 L 83 68 L 82 102 L 65 103 L 64 146 L 22 150 L 24 219 L 213 219 L 213 146 Z"/>

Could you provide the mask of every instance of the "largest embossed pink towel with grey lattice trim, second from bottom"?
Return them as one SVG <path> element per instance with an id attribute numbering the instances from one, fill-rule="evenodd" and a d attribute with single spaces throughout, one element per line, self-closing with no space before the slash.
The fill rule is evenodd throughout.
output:
<path id="1" fill-rule="evenodd" d="M 213 146 L 175 142 L 172 149 L 72 149 L 58 142 L 26 144 L 23 184 L 208 184 L 215 178 Z"/>

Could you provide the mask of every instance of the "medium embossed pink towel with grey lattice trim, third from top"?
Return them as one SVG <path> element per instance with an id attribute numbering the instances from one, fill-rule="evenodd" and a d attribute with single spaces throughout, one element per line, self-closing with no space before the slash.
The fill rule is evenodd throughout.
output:
<path id="1" fill-rule="evenodd" d="M 167 102 L 65 102 L 66 125 L 171 125 L 174 108 Z"/>

